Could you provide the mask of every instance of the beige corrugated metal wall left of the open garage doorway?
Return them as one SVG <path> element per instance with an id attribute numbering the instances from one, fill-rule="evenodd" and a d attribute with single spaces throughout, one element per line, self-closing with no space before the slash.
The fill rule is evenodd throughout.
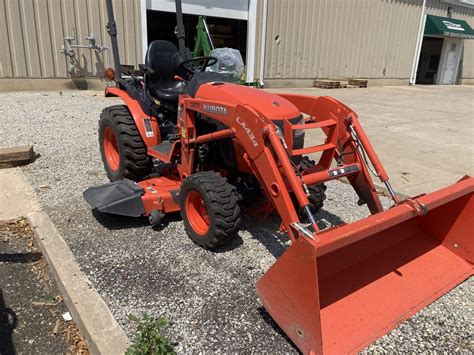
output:
<path id="1" fill-rule="evenodd" d="M 114 0 L 121 62 L 141 62 L 140 0 Z M 96 53 L 75 49 L 73 77 L 102 77 L 111 66 L 110 37 L 106 33 L 105 0 L 0 0 L 0 78 L 68 78 L 68 58 L 60 53 L 63 38 L 75 33 L 75 44 L 110 50 Z"/>

